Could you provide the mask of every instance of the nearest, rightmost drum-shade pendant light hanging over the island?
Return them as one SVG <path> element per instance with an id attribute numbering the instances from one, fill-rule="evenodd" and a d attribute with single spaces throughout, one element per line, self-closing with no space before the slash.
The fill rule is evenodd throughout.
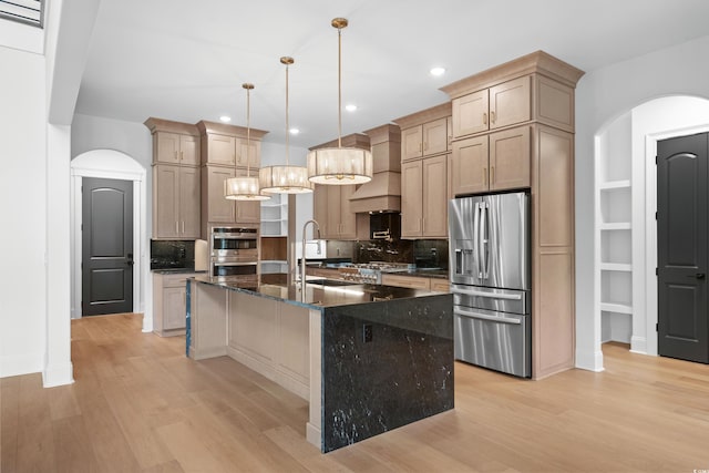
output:
<path id="1" fill-rule="evenodd" d="M 345 18 L 332 20 L 338 37 L 338 137 L 337 147 L 325 147 L 308 153 L 308 178 L 316 184 L 363 184 L 372 179 L 372 154 L 369 150 L 342 147 L 342 29 Z"/>

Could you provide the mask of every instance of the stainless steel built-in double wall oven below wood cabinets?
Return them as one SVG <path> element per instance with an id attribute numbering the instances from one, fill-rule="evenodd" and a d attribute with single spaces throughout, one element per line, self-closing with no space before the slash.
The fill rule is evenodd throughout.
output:
<path id="1" fill-rule="evenodd" d="M 258 282 L 258 228 L 212 227 L 209 277 L 218 281 Z"/>

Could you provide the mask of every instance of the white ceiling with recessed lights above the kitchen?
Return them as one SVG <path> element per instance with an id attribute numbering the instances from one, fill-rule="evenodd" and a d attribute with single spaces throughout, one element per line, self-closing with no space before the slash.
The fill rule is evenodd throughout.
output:
<path id="1" fill-rule="evenodd" d="M 336 17 L 342 30 L 342 134 L 448 100 L 459 79 L 544 50 L 586 72 L 709 34 L 707 0 L 102 0 L 76 112 L 251 126 L 291 145 L 337 137 Z M 706 58 L 698 60 L 707 60 Z M 434 65 L 446 69 L 433 78 Z M 583 80 L 583 79 L 582 79 Z"/>

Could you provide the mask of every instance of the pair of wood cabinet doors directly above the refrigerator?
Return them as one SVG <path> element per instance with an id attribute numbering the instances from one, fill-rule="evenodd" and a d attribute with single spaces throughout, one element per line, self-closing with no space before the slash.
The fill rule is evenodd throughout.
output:
<path id="1" fill-rule="evenodd" d="M 451 195 L 530 187 L 530 126 L 453 142 Z"/>

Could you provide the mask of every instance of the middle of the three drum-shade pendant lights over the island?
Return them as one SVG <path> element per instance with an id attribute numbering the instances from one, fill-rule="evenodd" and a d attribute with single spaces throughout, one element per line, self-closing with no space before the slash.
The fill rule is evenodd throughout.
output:
<path id="1" fill-rule="evenodd" d="M 266 166 L 258 172 L 261 192 L 269 194 L 305 194 L 312 192 L 312 184 L 308 181 L 308 168 L 289 164 L 288 66 L 294 62 L 292 58 L 280 58 L 280 63 L 286 65 L 286 165 Z"/>

